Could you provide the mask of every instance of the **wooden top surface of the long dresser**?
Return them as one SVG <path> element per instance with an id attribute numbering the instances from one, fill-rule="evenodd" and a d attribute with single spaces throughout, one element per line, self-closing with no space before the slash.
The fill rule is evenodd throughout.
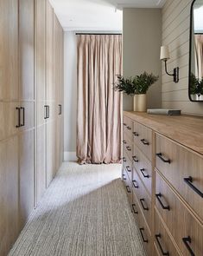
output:
<path id="1" fill-rule="evenodd" d="M 193 115 L 148 115 L 124 111 L 124 115 L 181 145 L 203 154 L 203 117 Z"/>

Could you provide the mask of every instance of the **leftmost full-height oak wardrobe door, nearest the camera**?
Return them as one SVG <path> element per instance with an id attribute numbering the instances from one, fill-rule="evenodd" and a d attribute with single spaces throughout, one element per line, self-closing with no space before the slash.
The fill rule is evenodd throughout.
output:
<path id="1" fill-rule="evenodd" d="M 18 0 L 0 0 L 0 255 L 18 225 Z M 16 109 L 17 108 L 17 109 Z"/>

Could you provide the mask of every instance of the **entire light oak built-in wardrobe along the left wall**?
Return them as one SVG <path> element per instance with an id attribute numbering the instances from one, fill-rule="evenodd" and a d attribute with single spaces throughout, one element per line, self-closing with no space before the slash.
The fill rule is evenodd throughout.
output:
<path id="1" fill-rule="evenodd" d="M 63 154 L 63 30 L 48 0 L 0 0 L 0 256 Z"/>

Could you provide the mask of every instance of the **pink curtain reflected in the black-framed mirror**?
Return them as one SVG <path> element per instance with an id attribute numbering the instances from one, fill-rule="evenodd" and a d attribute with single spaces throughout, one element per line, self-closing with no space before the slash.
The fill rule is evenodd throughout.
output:
<path id="1" fill-rule="evenodd" d="M 195 75 L 203 78 L 203 35 L 194 35 L 195 38 Z"/>

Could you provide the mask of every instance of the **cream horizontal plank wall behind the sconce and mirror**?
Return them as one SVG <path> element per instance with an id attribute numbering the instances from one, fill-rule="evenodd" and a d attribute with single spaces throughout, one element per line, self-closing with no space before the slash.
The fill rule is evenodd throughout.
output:
<path id="1" fill-rule="evenodd" d="M 167 0 L 162 9 L 162 45 L 168 45 L 168 71 L 180 67 L 180 82 L 166 75 L 162 63 L 162 108 L 180 108 L 183 113 L 203 115 L 203 103 L 188 98 L 190 8 L 193 0 Z"/>

